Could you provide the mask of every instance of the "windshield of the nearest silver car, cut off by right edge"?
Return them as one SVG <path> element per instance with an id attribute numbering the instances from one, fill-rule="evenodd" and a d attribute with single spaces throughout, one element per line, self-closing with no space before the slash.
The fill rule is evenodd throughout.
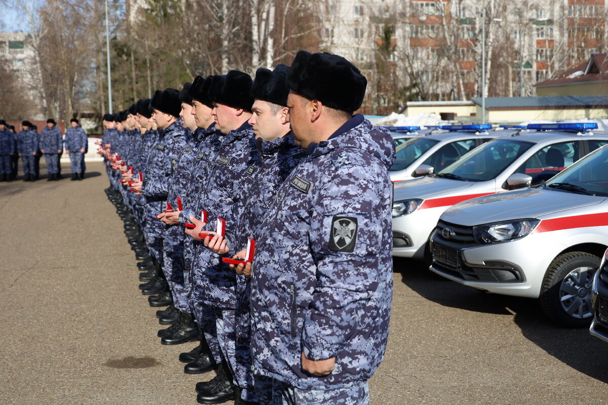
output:
<path id="1" fill-rule="evenodd" d="M 555 175 L 545 185 L 548 189 L 608 197 L 608 146 L 576 162 Z"/>

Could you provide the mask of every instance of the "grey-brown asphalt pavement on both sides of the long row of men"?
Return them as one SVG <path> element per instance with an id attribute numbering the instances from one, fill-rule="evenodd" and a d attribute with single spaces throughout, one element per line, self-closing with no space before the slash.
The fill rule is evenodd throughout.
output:
<path id="1" fill-rule="evenodd" d="M 213 373 L 184 374 L 178 355 L 195 344 L 156 338 L 102 163 L 81 182 L 64 174 L 0 183 L 0 404 L 196 404 Z M 608 403 L 608 343 L 586 329 L 409 260 L 394 282 L 373 405 Z"/>

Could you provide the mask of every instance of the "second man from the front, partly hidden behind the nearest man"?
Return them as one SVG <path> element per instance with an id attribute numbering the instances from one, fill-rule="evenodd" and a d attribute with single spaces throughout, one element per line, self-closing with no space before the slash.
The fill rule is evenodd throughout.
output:
<path id="1" fill-rule="evenodd" d="M 274 199 L 278 186 L 305 156 L 305 151 L 295 145 L 294 137 L 289 134 L 288 108 L 286 107 L 289 88 L 285 84 L 288 71 L 285 65 L 278 65 L 274 72 L 258 69 L 251 89 L 255 98 L 253 115 L 249 123 L 254 128 L 260 160 L 247 168 L 249 184 L 243 189 L 247 192 L 235 205 L 237 224 L 234 230 L 234 250 L 247 245 L 247 238 L 257 240 L 269 204 Z M 205 244 L 219 253 L 228 253 L 225 240 L 215 236 Z M 235 257 L 244 257 L 241 251 Z M 252 359 L 250 356 L 250 310 L 249 277 L 237 275 L 237 288 L 233 300 L 237 302 L 235 315 L 224 317 L 222 339 L 224 357 L 230 363 L 235 380 L 241 389 L 237 401 L 243 403 L 269 403 L 272 398 L 272 383 L 268 378 L 258 376 L 254 389 Z M 234 320 L 234 324 L 228 321 Z"/>

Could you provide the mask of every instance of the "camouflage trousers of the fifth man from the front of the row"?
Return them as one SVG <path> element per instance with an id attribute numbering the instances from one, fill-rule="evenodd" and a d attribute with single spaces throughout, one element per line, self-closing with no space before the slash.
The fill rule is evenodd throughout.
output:
<path id="1" fill-rule="evenodd" d="M 188 302 L 188 290 L 184 285 L 184 238 L 169 233 L 174 233 L 174 225 L 167 231 L 163 247 L 165 277 L 173 296 L 173 305 L 184 313 L 190 313 Z"/>

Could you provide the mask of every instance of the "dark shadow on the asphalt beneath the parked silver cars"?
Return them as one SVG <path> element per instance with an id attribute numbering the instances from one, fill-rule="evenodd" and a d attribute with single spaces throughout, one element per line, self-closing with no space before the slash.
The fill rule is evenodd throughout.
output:
<path id="1" fill-rule="evenodd" d="M 608 383 L 608 343 L 589 335 L 587 328 L 553 324 L 536 300 L 484 293 L 444 279 L 415 260 L 394 257 L 393 266 L 404 284 L 430 301 L 480 313 L 514 313 L 514 322 L 526 339 L 567 366 Z"/>

